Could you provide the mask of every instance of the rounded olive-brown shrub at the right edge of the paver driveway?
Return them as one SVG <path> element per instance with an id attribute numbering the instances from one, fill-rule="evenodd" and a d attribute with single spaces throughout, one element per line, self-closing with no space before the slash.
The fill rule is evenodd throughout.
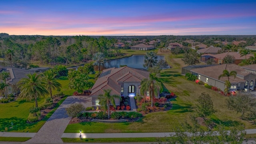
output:
<path id="1" fill-rule="evenodd" d="M 72 116 L 72 118 L 78 117 L 78 115 L 83 111 L 85 111 L 85 107 L 83 104 L 72 104 L 68 108 L 66 108 L 66 113 L 68 114 L 68 116 Z"/>

